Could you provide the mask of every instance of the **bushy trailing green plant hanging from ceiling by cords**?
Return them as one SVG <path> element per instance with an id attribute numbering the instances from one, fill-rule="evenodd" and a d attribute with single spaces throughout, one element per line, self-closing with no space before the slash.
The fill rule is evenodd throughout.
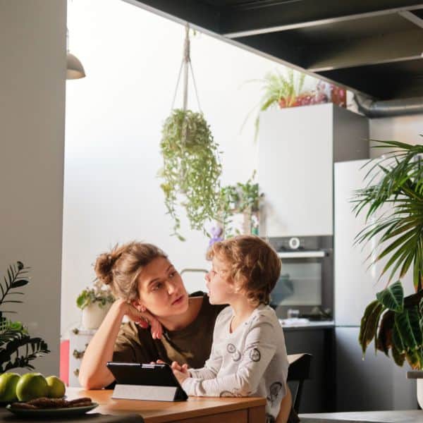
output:
<path id="1" fill-rule="evenodd" d="M 171 215 L 173 235 L 180 235 L 178 204 L 185 207 L 190 227 L 204 231 L 204 223 L 216 219 L 219 209 L 221 164 L 218 145 L 202 113 L 173 109 L 160 142 L 165 205 Z"/>

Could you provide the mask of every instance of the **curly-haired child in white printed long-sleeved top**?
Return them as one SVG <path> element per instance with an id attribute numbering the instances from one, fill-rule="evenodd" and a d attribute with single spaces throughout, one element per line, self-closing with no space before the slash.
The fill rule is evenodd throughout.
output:
<path id="1" fill-rule="evenodd" d="M 274 422 L 286 395 L 288 358 L 269 294 L 281 260 L 264 240 L 241 235 L 214 243 L 206 276 L 212 304 L 228 304 L 216 318 L 212 352 L 202 369 L 172 364 L 190 396 L 263 396 L 266 422 Z"/>

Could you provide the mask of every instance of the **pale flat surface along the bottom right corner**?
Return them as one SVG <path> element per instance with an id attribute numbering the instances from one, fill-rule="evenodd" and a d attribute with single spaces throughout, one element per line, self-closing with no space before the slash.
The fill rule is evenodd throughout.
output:
<path id="1" fill-rule="evenodd" d="M 322 412 L 300 415 L 302 423 L 423 423 L 423 410 Z"/>

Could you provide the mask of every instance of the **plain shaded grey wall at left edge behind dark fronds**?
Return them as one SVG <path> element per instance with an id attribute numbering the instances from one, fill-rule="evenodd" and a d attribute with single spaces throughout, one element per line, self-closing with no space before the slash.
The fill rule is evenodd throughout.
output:
<path id="1" fill-rule="evenodd" d="M 1 309 L 47 341 L 35 367 L 58 374 L 66 1 L 0 0 L 0 51 L 0 271 L 32 267 L 24 303 Z"/>

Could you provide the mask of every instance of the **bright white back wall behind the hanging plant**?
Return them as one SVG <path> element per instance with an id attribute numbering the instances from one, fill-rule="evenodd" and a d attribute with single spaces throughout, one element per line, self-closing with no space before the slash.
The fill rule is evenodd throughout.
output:
<path id="1" fill-rule="evenodd" d="M 63 335 L 80 321 L 75 298 L 94 278 L 95 258 L 116 243 L 156 243 L 180 270 L 208 266 L 202 233 L 183 221 L 186 242 L 170 236 L 157 178 L 184 27 L 119 0 L 73 0 L 68 29 L 87 78 L 67 85 Z M 245 182 L 257 168 L 255 114 L 240 128 L 262 92 L 259 83 L 244 82 L 282 68 L 203 34 L 192 37 L 191 57 L 202 110 L 223 151 L 222 182 Z M 189 106 L 197 110 L 192 86 Z M 184 274 L 190 291 L 204 288 L 202 279 Z"/>

